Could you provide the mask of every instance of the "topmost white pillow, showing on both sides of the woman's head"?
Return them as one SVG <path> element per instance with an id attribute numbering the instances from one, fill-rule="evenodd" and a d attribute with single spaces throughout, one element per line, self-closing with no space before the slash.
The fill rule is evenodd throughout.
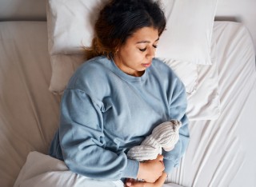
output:
<path id="1" fill-rule="evenodd" d="M 94 22 L 107 0 L 48 0 L 50 54 L 82 54 L 90 46 Z M 210 64 L 210 42 L 217 0 L 162 0 L 167 30 L 157 57 Z"/>

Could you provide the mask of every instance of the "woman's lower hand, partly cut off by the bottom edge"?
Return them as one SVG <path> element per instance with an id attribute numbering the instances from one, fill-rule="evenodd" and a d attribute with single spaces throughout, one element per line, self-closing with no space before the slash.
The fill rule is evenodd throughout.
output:
<path id="1" fill-rule="evenodd" d="M 166 181 L 166 177 L 167 177 L 167 174 L 162 173 L 162 176 L 159 177 L 158 180 L 155 181 L 154 183 L 144 182 L 144 181 L 136 181 L 134 179 L 129 178 L 126 180 L 125 186 L 126 187 L 162 187 L 162 185 Z"/>

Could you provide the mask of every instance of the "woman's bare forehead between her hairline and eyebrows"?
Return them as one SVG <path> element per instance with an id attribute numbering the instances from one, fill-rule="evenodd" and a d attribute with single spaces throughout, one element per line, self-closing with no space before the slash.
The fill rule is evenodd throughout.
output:
<path id="1" fill-rule="evenodd" d="M 127 39 L 127 42 L 143 43 L 143 42 L 156 42 L 158 40 L 158 30 L 153 27 L 143 27 L 136 30 L 134 34 Z"/>

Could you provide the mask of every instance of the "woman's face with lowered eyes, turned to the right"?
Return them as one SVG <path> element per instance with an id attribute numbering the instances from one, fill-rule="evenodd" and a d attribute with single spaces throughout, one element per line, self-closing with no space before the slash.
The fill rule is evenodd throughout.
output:
<path id="1" fill-rule="evenodd" d="M 152 63 L 158 39 L 158 30 L 152 27 L 137 30 L 126 39 L 125 44 L 118 48 L 114 63 L 126 74 L 142 76 Z"/>

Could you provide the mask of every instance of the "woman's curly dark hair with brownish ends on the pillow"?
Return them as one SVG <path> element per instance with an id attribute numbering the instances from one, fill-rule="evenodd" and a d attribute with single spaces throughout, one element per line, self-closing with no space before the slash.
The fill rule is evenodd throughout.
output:
<path id="1" fill-rule="evenodd" d="M 115 51 L 134 32 L 153 27 L 160 36 L 166 28 L 166 17 L 158 2 L 153 0 L 111 0 L 100 11 L 94 26 L 91 47 L 86 47 L 86 58 L 106 55 L 113 58 Z"/>

